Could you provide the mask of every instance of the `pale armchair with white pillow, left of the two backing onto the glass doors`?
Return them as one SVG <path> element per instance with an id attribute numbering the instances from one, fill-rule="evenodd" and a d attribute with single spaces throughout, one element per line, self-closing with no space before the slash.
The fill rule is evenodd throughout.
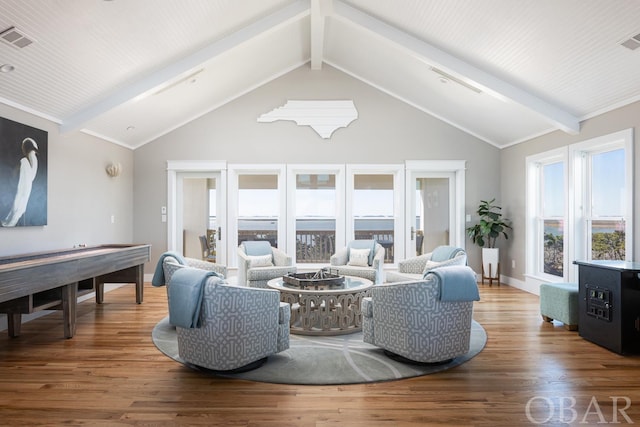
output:
<path id="1" fill-rule="evenodd" d="M 246 241 L 238 246 L 238 284 L 266 288 L 267 282 L 295 273 L 293 258 L 267 241 Z"/>

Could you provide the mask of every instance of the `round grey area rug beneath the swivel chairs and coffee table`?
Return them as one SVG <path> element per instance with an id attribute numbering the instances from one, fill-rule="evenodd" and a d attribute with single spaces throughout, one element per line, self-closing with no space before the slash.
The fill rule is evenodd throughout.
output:
<path id="1" fill-rule="evenodd" d="M 487 334 L 474 320 L 469 352 L 450 362 L 432 365 L 393 360 L 381 348 L 363 342 L 362 332 L 329 337 L 291 334 L 288 350 L 269 356 L 257 369 L 234 374 L 195 367 L 180 359 L 176 331 L 169 324 L 168 316 L 153 328 L 152 339 L 161 352 L 176 362 L 211 375 L 278 384 L 326 385 L 391 381 L 441 372 L 480 353 Z"/>

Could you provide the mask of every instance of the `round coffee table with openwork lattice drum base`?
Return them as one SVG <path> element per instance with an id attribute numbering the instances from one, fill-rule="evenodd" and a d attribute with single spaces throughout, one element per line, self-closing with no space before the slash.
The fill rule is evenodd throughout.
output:
<path id="1" fill-rule="evenodd" d="M 371 280 L 345 276 L 341 286 L 302 289 L 282 277 L 267 283 L 280 291 L 280 301 L 291 304 L 290 332 L 299 335 L 343 335 L 362 330 L 362 298 L 369 296 Z"/>

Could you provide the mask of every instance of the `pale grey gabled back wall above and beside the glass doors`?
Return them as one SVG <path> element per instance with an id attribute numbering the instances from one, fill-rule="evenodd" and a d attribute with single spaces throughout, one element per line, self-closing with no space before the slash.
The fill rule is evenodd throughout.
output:
<path id="1" fill-rule="evenodd" d="M 353 100 L 359 117 L 329 140 L 290 121 L 257 122 L 287 100 L 314 99 Z M 167 247 L 160 216 L 167 205 L 167 160 L 397 164 L 466 159 L 467 212 L 473 213 L 481 199 L 500 197 L 497 148 L 326 65 L 321 71 L 302 66 L 136 149 L 134 158 L 134 237 L 152 244 L 153 266 Z M 480 250 L 470 243 L 467 249 L 479 272 Z"/>

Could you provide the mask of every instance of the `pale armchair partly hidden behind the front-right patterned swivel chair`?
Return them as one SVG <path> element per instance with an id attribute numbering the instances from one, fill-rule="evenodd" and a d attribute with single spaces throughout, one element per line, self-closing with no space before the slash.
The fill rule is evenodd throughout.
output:
<path id="1" fill-rule="evenodd" d="M 467 265 L 467 253 L 455 246 L 438 246 L 424 255 L 398 262 L 398 270 L 388 270 L 385 282 L 420 280 L 429 270 L 450 265 Z"/>

